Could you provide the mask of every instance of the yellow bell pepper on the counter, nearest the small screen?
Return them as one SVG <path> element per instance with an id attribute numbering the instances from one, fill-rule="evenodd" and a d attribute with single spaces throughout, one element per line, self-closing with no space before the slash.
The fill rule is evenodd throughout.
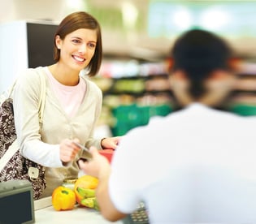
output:
<path id="1" fill-rule="evenodd" d="M 52 193 L 52 205 L 55 210 L 72 210 L 76 204 L 76 194 L 70 188 L 59 186 Z"/>

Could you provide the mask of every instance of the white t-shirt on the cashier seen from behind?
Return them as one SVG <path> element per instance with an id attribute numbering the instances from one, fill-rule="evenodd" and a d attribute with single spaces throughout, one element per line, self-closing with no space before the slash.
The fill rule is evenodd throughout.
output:
<path id="1" fill-rule="evenodd" d="M 111 200 L 150 223 L 256 223 L 256 118 L 200 104 L 129 131 L 112 160 Z"/>

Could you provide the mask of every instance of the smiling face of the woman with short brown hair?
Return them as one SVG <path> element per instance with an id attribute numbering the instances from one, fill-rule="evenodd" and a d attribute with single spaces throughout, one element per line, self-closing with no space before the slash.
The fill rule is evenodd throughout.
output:
<path id="1" fill-rule="evenodd" d="M 60 50 L 59 62 L 69 69 L 81 71 L 93 58 L 96 43 L 97 32 L 93 29 L 77 29 L 63 40 L 56 36 L 56 45 Z"/>

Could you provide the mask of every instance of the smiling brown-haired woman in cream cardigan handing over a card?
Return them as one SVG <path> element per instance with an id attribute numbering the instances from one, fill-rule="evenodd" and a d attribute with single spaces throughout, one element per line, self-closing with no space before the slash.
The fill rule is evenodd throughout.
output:
<path id="1" fill-rule="evenodd" d="M 81 71 L 96 75 L 102 62 L 102 36 L 98 21 L 79 11 L 67 15 L 54 35 L 55 63 L 39 67 L 46 76 L 43 122 L 38 122 L 40 79 L 36 69 L 20 74 L 14 92 L 15 127 L 24 157 L 46 166 L 46 190 L 50 196 L 63 179 L 76 179 L 76 160 L 89 148 L 115 149 L 119 137 L 93 139 L 102 110 L 102 92 Z"/>

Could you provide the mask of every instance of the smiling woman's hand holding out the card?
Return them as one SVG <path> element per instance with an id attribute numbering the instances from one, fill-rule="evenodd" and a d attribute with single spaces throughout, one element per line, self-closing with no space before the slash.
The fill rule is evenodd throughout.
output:
<path id="1" fill-rule="evenodd" d="M 77 139 L 65 139 L 59 144 L 59 157 L 64 163 L 72 162 L 76 158 L 76 154 L 80 151 L 80 148 L 73 141 L 79 142 Z"/>

